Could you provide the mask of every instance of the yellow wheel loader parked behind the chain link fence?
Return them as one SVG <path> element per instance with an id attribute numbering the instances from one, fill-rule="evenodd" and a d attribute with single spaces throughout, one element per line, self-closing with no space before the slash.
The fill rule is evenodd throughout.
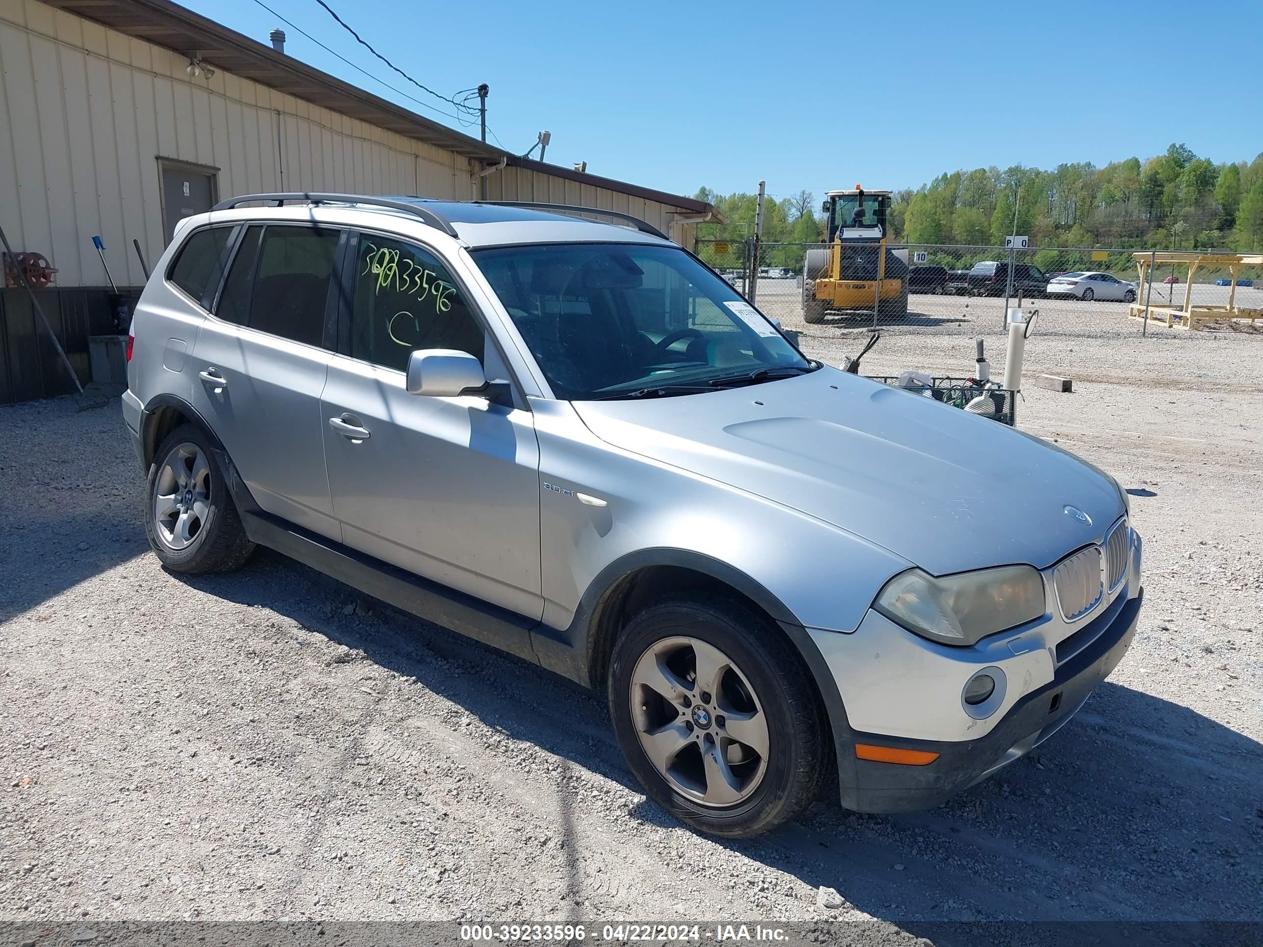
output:
<path id="1" fill-rule="evenodd" d="M 830 191 L 823 211 L 829 246 L 807 251 L 802 270 L 802 317 L 865 312 L 880 322 L 908 314 L 908 251 L 887 249 L 889 191 Z M 878 287 L 880 285 L 880 290 Z"/>

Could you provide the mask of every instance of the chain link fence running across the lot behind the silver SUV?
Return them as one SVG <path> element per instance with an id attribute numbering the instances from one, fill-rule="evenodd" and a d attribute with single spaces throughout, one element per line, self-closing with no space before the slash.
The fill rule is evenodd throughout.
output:
<path id="1" fill-rule="evenodd" d="M 1195 306 L 1226 306 L 1231 293 L 1226 268 L 1199 268 L 1190 288 L 1187 266 L 1159 264 L 1152 288 L 1140 284 L 1134 249 L 888 245 L 880 289 L 877 244 L 844 245 L 836 280 L 829 244 L 760 244 L 755 251 L 753 240 L 698 240 L 695 253 L 798 332 L 997 335 L 1005 331 L 1005 299 L 1018 306 L 1021 297 L 1028 312 L 1039 311 L 1042 335 L 1129 336 L 1143 331 L 1128 318 L 1133 302 L 1182 306 L 1190 294 Z M 1263 307 L 1263 268 L 1238 273 L 1233 302 Z"/>

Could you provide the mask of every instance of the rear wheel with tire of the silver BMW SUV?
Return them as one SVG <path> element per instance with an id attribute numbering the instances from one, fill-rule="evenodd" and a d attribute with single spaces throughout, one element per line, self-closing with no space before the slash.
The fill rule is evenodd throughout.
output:
<path id="1" fill-rule="evenodd" d="M 163 566 L 188 575 L 240 568 L 254 552 L 211 439 L 195 424 L 172 431 L 149 465 L 145 535 Z"/>

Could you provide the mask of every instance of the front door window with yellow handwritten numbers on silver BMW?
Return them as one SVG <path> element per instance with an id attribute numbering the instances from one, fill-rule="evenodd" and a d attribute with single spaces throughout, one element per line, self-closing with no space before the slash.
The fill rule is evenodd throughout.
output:
<path id="1" fill-rule="evenodd" d="M 416 348 L 457 348 L 482 361 L 485 333 L 433 254 L 360 234 L 351 357 L 404 371 Z"/>

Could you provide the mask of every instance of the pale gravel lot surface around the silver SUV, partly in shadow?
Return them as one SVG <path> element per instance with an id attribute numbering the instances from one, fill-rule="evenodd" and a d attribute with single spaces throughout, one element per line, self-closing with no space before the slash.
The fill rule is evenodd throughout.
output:
<path id="1" fill-rule="evenodd" d="M 997 301 L 913 301 L 967 322 L 888 336 L 866 372 L 965 374 L 976 332 L 1000 371 Z M 116 403 L 0 408 L 0 920 L 875 918 L 890 942 L 945 919 L 1263 920 L 1263 338 L 1142 340 L 1080 308 L 1027 354 L 1075 393 L 1031 388 L 1019 423 L 1133 492 L 1130 653 L 942 808 L 817 804 L 735 843 L 644 799 L 599 697 L 268 552 L 160 569 Z M 835 364 L 861 341 L 797 327 Z"/>

